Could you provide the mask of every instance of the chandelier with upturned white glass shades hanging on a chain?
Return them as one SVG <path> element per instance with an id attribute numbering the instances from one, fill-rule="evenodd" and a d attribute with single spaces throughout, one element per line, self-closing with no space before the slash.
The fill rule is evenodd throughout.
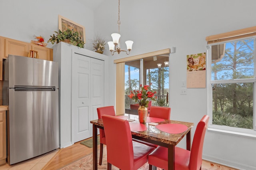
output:
<path id="1" fill-rule="evenodd" d="M 117 21 L 117 25 L 118 25 L 118 33 L 113 33 L 111 34 L 113 41 L 112 42 L 108 42 L 108 46 L 109 46 L 109 50 L 111 52 L 111 55 L 114 55 L 114 52 L 117 52 L 118 54 L 120 54 L 121 51 L 125 51 L 122 50 L 120 47 L 120 0 L 118 0 L 118 21 Z M 133 41 L 126 41 L 126 46 L 127 46 L 127 50 L 129 51 L 129 53 L 127 51 L 126 54 L 130 54 L 130 51 L 132 50 L 132 44 Z"/>

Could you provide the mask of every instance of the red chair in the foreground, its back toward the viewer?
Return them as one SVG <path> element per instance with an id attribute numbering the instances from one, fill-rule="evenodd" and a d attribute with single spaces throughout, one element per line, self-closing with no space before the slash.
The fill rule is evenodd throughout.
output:
<path id="1" fill-rule="evenodd" d="M 155 148 L 132 140 L 129 121 L 109 115 L 102 116 L 106 142 L 108 170 L 114 165 L 121 170 L 137 170 L 148 162 Z"/>

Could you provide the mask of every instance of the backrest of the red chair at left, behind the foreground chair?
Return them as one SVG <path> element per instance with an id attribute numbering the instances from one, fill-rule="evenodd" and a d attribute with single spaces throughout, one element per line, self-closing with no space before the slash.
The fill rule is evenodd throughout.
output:
<path id="1" fill-rule="evenodd" d="M 105 106 L 105 107 L 98 107 L 97 108 L 98 119 L 102 118 L 102 115 L 111 115 L 115 116 L 116 112 L 114 106 Z M 104 130 L 100 129 L 100 143 L 102 143 L 102 138 L 105 136 Z"/>

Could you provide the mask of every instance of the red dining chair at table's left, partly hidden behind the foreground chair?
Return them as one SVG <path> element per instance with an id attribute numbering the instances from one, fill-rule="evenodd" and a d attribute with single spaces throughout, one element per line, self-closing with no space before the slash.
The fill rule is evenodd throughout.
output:
<path id="1" fill-rule="evenodd" d="M 97 112 L 98 112 L 98 119 L 101 119 L 102 115 L 111 115 L 111 116 L 116 115 L 114 106 L 98 107 Z M 103 144 L 106 145 L 106 137 L 105 137 L 104 129 L 100 129 L 100 161 L 99 161 L 99 165 L 102 164 Z"/>

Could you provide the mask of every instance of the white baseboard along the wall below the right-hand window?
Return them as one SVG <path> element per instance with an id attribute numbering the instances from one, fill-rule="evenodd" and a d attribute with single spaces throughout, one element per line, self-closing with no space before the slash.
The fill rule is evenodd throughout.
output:
<path id="1" fill-rule="evenodd" d="M 217 158 L 217 157 L 214 157 L 214 156 L 210 156 L 210 155 L 203 154 L 202 158 L 203 158 L 203 160 L 207 160 L 207 161 L 210 161 L 210 162 L 214 162 L 216 164 L 221 164 L 221 165 L 224 165 L 224 166 L 228 166 L 230 168 L 236 168 L 236 169 L 239 169 L 239 170 L 256 170 L 256 167 L 253 167 L 253 166 L 248 166 L 246 164 L 240 164 L 238 162 L 233 162 L 233 161 L 230 161 L 230 160 L 223 160 L 223 159 L 220 159 L 220 158 Z"/>

